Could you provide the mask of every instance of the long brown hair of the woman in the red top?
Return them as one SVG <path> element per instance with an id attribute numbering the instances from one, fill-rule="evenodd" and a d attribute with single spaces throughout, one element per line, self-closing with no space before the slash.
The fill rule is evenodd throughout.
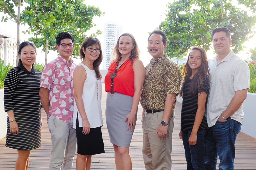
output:
<path id="1" fill-rule="evenodd" d="M 129 57 L 129 59 L 133 63 L 133 61 L 132 61 L 133 58 L 140 58 L 140 50 L 139 50 L 137 42 L 135 41 L 135 38 L 130 33 L 123 33 L 122 35 L 120 35 L 120 37 L 118 38 L 118 40 L 116 42 L 115 48 L 113 49 L 113 57 L 116 59 L 116 62 L 120 61 L 120 59 L 122 57 L 122 54 L 118 50 L 119 40 L 122 36 L 129 36 L 132 39 L 132 45 L 134 45 L 134 48 L 132 49 L 131 56 Z"/>

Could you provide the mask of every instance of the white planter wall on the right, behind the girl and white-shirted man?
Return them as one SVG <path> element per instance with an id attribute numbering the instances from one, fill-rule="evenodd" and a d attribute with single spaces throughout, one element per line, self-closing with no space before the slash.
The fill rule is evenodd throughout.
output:
<path id="1" fill-rule="evenodd" d="M 256 93 L 247 93 L 247 98 L 243 103 L 244 121 L 241 132 L 256 138 Z M 182 103 L 182 98 L 178 97 L 178 102 Z"/>

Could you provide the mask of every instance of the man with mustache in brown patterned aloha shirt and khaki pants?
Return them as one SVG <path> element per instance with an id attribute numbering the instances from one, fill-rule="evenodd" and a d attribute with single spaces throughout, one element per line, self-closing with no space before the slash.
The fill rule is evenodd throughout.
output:
<path id="1" fill-rule="evenodd" d="M 164 54 L 166 42 L 167 37 L 160 30 L 154 30 L 148 37 L 148 52 L 153 58 L 146 66 L 140 99 L 146 170 L 172 168 L 173 109 L 180 93 L 181 73 L 178 65 Z"/>

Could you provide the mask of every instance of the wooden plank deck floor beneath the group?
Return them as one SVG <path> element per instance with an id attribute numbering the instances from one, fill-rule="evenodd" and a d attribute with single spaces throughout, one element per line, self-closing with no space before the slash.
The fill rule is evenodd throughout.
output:
<path id="1" fill-rule="evenodd" d="M 92 157 L 91 169 L 116 169 L 114 150 L 112 144 L 109 142 L 108 130 L 105 120 L 106 107 L 106 92 L 104 91 L 104 84 L 102 84 L 102 112 L 104 125 L 102 127 L 102 135 L 105 145 L 105 153 L 94 155 Z M 178 103 L 175 108 L 175 122 L 172 142 L 172 169 L 187 169 L 182 141 L 179 138 L 180 131 L 180 110 L 181 104 Z M 141 113 L 142 107 L 139 105 L 138 119 L 136 129 L 133 133 L 132 142 L 130 146 L 130 155 L 132 159 L 132 169 L 145 169 L 142 157 L 142 127 L 141 127 Z M 42 127 L 42 146 L 38 149 L 31 150 L 29 168 L 30 170 L 48 169 L 50 152 L 52 143 L 50 132 L 46 125 L 46 114 L 43 115 Z M 256 129 L 254 129 L 256 130 Z M 5 147 L 5 138 L 0 140 L 0 170 L 14 169 L 17 158 L 17 151 Z M 73 169 L 76 169 L 76 155 L 73 163 Z M 217 168 L 218 169 L 218 168 Z M 256 139 L 240 132 L 236 139 L 236 170 L 256 170 Z"/>

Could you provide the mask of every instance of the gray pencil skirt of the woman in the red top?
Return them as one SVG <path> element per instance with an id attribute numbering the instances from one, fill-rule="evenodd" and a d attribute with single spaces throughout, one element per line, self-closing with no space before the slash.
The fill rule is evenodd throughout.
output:
<path id="1" fill-rule="evenodd" d="M 108 128 L 109 139 L 112 144 L 128 148 L 131 144 L 134 130 L 127 130 L 125 117 L 131 112 L 132 97 L 118 92 L 110 96 L 107 95 L 106 102 L 106 123 Z M 137 121 L 137 112 L 135 115 L 135 125 Z"/>

